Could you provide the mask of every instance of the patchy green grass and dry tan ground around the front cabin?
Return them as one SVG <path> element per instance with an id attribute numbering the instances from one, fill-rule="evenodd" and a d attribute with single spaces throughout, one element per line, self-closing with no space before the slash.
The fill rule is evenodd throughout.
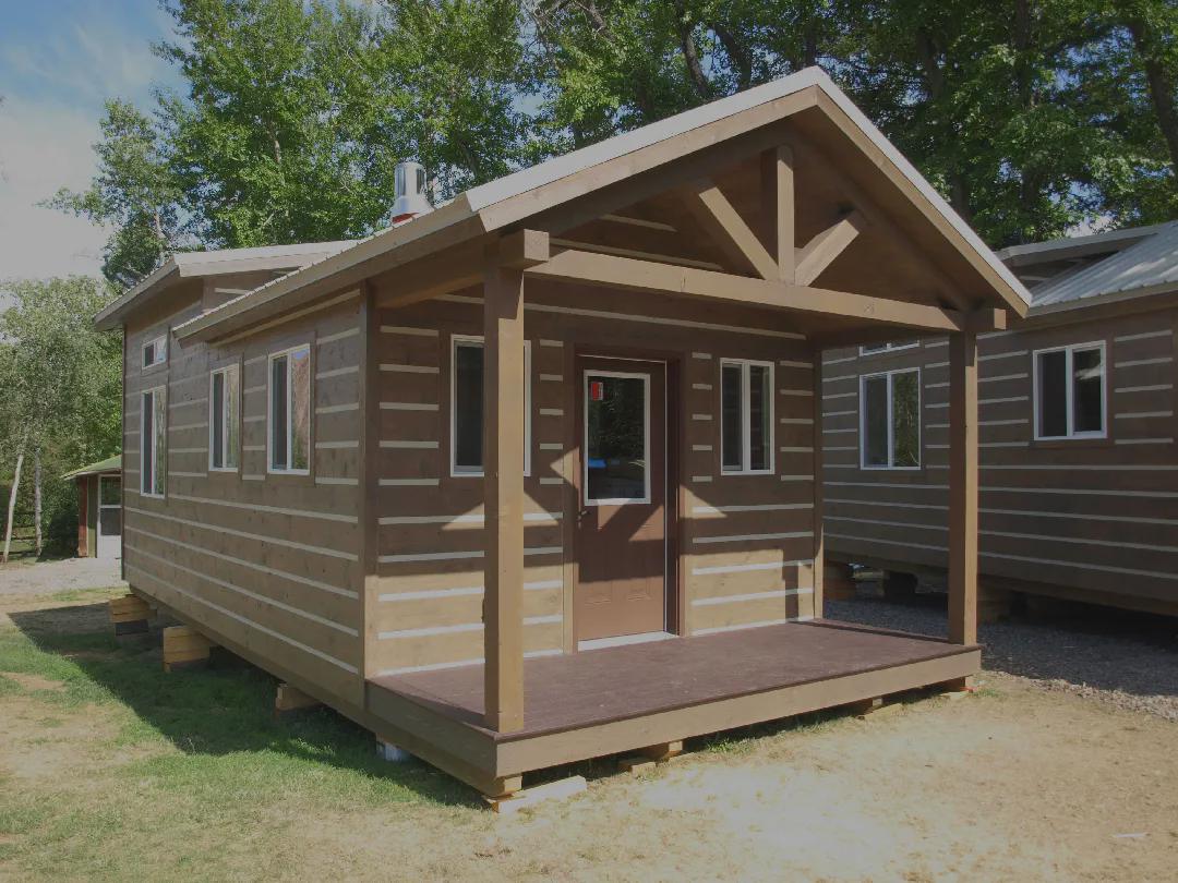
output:
<path id="1" fill-rule="evenodd" d="M 581 765 L 588 794 L 499 818 L 333 712 L 274 721 L 257 669 L 165 675 L 115 593 L 0 597 L 0 879 L 1160 879 L 1178 852 L 1173 724 L 1014 678 Z"/>

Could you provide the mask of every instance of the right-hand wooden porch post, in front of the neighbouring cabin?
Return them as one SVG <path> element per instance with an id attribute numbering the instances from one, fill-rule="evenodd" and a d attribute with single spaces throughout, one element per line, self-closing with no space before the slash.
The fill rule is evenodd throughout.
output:
<path id="1" fill-rule="evenodd" d="M 949 334 L 949 629 L 978 640 L 978 336 Z"/>

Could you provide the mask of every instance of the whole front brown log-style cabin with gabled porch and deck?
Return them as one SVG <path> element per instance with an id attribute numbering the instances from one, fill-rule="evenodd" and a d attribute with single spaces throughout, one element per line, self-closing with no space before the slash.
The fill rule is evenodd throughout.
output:
<path id="1" fill-rule="evenodd" d="M 487 794 L 978 671 L 974 341 L 1026 291 L 825 74 L 397 214 L 98 318 L 137 593 Z M 822 616 L 819 354 L 898 333 L 952 339 L 947 639 Z"/>

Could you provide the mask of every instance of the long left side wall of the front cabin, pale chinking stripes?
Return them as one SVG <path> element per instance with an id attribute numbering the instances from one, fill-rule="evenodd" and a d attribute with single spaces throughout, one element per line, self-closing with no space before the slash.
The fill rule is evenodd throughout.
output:
<path id="1" fill-rule="evenodd" d="M 247 287 L 253 277 L 219 278 Z M 363 701 L 359 298 L 218 346 L 180 346 L 144 370 L 141 345 L 198 314 L 199 281 L 128 324 L 125 557 L 132 587 L 338 699 Z M 267 356 L 311 344 L 309 476 L 267 473 Z M 236 472 L 209 470 L 210 371 L 240 365 Z M 165 498 L 140 493 L 140 396 L 167 390 Z"/>

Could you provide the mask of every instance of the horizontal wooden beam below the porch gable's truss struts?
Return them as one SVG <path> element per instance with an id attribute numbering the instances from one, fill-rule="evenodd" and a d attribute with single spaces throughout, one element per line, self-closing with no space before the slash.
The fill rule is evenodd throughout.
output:
<path id="1" fill-rule="evenodd" d="M 772 307 L 814 317 L 862 321 L 926 332 L 960 331 L 964 317 L 926 304 L 813 288 L 766 279 L 675 267 L 630 258 L 567 251 L 525 271 L 536 279 L 601 285 L 621 291 L 706 298 L 744 306 Z"/>

